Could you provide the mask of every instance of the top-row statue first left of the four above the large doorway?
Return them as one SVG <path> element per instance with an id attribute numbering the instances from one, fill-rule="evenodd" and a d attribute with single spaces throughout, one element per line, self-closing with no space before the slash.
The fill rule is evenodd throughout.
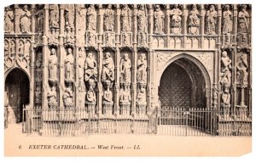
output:
<path id="1" fill-rule="evenodd" d="M 140 5 L 137 11 L 137 31 L 147 32 L 147 26 L 148 26 L 147 8 L 145 8 L 145 5 Z"/>

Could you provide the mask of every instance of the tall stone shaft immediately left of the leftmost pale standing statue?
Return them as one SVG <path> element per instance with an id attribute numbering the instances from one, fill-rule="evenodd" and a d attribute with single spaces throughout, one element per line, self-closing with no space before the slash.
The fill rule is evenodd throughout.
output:
<path id="1" fill-rule="evenodd" d="M 48 47 L 49 36 L 49 4 L 44 4 L 44 36 L 43 36 L 43 92 L 42 92 L 42 108 L 48 108 L 47 92 L 48 92 Z"/>

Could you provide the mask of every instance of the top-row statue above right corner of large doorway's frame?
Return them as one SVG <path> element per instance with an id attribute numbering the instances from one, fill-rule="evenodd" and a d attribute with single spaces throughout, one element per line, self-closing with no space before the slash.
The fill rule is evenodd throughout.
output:
<path id="1" fill-rule="evenodd" d="M 217 24 L 217 16 L 218 13 L 215 10 L 214 5 L 211 5 L 210 9 L 207 11 L 207 19 L 206 19 L 206 33 L 211 35 L 211 34 L 216 34 L 215 28 Z"/>

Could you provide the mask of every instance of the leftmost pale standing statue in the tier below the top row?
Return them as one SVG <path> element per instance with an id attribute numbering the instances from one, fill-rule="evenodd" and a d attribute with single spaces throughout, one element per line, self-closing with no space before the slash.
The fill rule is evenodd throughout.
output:
<path id="1" fill-rule="evenodd" d="M 57 81 L 57 64 L 58 59 L 56 56 L 55 48 L 51 48 L 48 63 L 49 81 Z"/>

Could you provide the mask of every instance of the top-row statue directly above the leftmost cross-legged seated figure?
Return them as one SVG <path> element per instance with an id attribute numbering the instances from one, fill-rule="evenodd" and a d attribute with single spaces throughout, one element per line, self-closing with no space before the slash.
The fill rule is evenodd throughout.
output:
<path id="1" fill-rule="evenodd" d="M 93 4 L 87 9 L 87 30 L 96 31 L 96 10 Z"/>

